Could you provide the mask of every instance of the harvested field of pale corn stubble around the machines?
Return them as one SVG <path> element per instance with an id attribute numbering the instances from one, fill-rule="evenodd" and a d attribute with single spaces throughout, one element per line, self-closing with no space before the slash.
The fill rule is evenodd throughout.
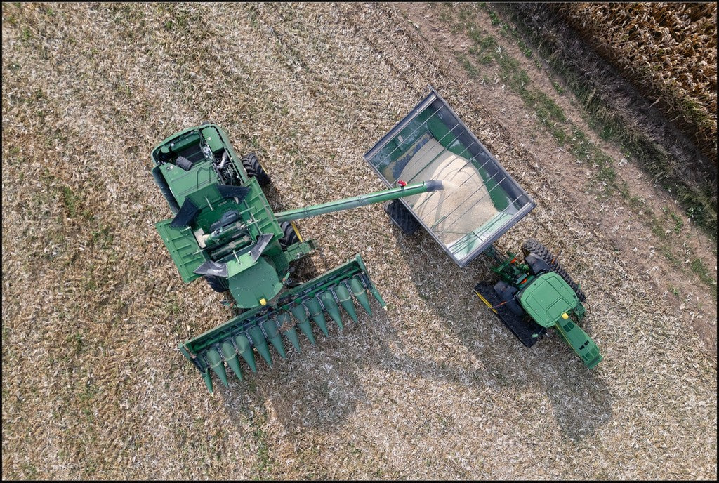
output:
<path id="1" fill-rule="evenodd" d="M 416 7 L 3 4 L 5 479 L 716 479 L 710 290 Z M 257 152 L 275 211 L 323 203 L 383 188 L 362 154 L 428 84 L 536 201 L 499 245 L 560 254 L 603 362 L 557 337 L 526 349 L 472 293 L 490 262 L 459 269 L 366 206 L 299 226 L 318 272 L 361 253 L 388 311 L 209 397 L 177 343 L 229 314 L 155 231 L 152 147 L 212 120 Z M 646 217 L 672 208 L 613 159 Z M 705 238 L 677 216 L 679 256 Z M 715 252 L 694 258 L 715 287 Z"/>

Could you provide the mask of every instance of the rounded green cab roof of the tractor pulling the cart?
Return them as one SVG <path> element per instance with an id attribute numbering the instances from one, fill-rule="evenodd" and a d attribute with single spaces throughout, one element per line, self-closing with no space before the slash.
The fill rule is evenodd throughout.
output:
<path id="1" fill-rule="evenodd" d="M 522 290 L 519 303 L 536 323 L 551 327 L 580 300 L 562 277 L 556 272 L 548 272 L 536 277 Z"/>

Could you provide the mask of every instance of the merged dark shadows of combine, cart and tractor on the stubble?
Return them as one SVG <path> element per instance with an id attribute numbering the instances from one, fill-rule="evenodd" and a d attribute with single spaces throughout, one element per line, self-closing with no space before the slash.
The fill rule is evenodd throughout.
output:
<path id="1" fill-rule="evenodd" d="M 489 260 L 479 257 L 460 269 L 429 234 L 405 236 L 394 225 L 391 230 L 413 267 L 411 282 L 419 297 L 446 321 L 446 333 L 464 345 L 482 369 L 468 378 L 466 369 L 452 364 L 398 356 L 386 341 L 393 341 L 401 352 L 402 338 L 387 313 L 372 302 L 372 316 L 358 311 L 359 321 L 348 321 L 343 331 L 328 321 L 329 336 L 316 331 L 316 346 L 304 339 L 302 354 L 290 347 L 288 360 L 277 358 L 271 369 L 262 362 L 257 374 L 221 387 L 230 413 L 270 411 L 289 433 L 336 431 L 358 405 L 370 403 L 359 374 L 381 367 L 468 387 L 541 390 L 564 436 L 575 440 L 592 436 L 610 420 L 613 397 L 596 369 L 586 369 L 559 336 L 527 349 L 474 295 L 475 283 L 491 278 Z"/>

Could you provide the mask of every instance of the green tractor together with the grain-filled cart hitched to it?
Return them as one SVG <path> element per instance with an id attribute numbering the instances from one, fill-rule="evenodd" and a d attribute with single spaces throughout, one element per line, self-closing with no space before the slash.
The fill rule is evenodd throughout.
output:
<path id="1" fill-rule="evenodd" d="M 434 88 L 365 160 L 388 186 L 442 180 L 443 190 L 388 202 L 385 210 L 405 234 L 426 229 L 459 267 L 480 254 L 493 257 L 501 280 L 480 282 L 475 293 L 524 345 L 554 327 L 587 367 L 602 360 L 570 320 L 585 316 L 585 295 L 549 250 L 528 240 L 521 264 L 493 247 L 535 203 Z"/>

